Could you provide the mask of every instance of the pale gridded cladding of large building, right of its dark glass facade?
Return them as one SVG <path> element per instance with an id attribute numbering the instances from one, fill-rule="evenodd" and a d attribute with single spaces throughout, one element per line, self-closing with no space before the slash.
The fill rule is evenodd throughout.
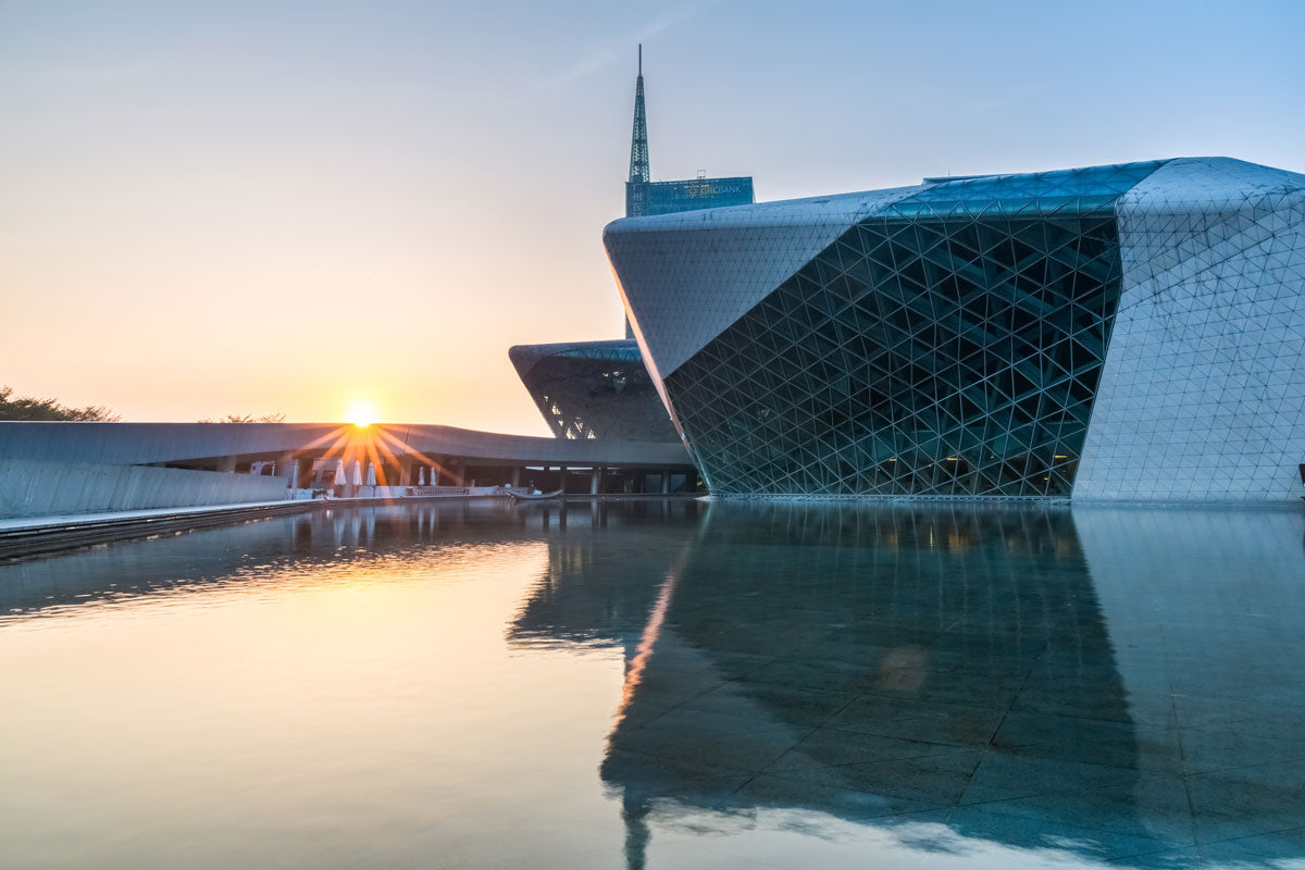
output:
<path id="1" fill-rule="evenodd" d="M 1124 267 L 1075 501 L 1297 501 L 1305 176 L 1172 160 L 1116 205 Z"/>

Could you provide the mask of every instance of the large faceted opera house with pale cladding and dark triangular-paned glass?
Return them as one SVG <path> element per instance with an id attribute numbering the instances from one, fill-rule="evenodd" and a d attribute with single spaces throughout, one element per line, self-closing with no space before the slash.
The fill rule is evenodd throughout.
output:
<path id="1" fill-rule="evenodd" d="M 1300 498 L 1302 175 L 937 177 L 604 244 L 714 494 Z"/>

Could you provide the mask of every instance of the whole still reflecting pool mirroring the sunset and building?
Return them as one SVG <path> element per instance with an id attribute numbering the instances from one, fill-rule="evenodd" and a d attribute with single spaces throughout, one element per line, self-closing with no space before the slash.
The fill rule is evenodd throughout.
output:
<path id="1" fill-rule="evenodd" d="M 331 509 L 0 566 L 0 866 L 1305 867 L 1305 513 Z"/>

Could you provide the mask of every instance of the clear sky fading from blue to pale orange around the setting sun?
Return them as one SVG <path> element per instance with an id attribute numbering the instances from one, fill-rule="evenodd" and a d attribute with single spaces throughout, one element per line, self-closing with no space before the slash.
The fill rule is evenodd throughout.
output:
<path id="1" fill-rule="evenodd" d="M 1305 171 L 1305 3 L 0 0 L 0 383 L 124 420 L 547 434 L 654 179 L 758 200 L 1164 157 Z"/>

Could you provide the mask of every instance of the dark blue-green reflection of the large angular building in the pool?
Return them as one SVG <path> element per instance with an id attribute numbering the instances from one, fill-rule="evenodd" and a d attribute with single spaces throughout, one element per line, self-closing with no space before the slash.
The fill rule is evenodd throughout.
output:
<path id="1" fill-rule="evenodd" d="M 625 650 L 600 775 L 629 867 L 654 822 L 727 836 L 776 811 L 924 866 L 1193 866 L 1233 837 L 1257 866 L 1305 845 L 1280 833 L 1305 826 L 1305 768 L 1257 767 L 1305 754 L 1301 524 L 724 502 L 624 582 L 553 541 L 514 637 Z"/>

